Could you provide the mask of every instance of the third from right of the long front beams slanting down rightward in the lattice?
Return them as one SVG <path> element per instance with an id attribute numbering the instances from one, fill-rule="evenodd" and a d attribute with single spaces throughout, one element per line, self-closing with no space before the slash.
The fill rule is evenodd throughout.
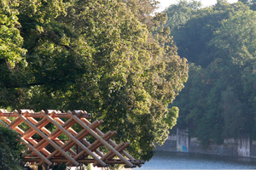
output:
<path id="1" fill-rule="evenodd" d="M 16 114 L 17 116 L 20 117 L 20 119 L 22 119 L 23 122 L 25 122 L 29 127 L 33 128 L 43 139 L 46 139 L 46 140 L 49 142 L 49 144 L 51 144 L 56 150 L 60 150 L 61 153 L 62 153 L 62 155 L 65 156 L 65 157 L 67 157 L 67 159 L 68 159 L 69 161 L 72 161 L 72 163 L 73 163 L 75 166 L 79 166 L 79 162 L 75 161 L 71 156 L 68 156 L 68 154 L 67 154 L 64 150 L 61 150 L 61 148 L 60 148 L 57 144 L 55 144 L 55 143 L 54 143 L 51 139 L 49 139 L 44 133 L 42 133 L 37 127 L 35 127 L 35 126 L 32 124 L 32 122 L 29 122 L 29 121 L 26 119 L 26 117 L 20 115 L 20 114 L 18 113 L 18 111 L 14 111 L 14 112 L 15 112 L 15 114 Z"/>

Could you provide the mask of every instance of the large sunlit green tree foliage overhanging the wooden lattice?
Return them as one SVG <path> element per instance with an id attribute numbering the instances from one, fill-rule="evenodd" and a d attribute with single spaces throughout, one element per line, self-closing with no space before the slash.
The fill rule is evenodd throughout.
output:
<path id="1" fill-rule="evenodd" d="M 0 108 L 90 112 L 149 160 L 177 121 L 168 104 L 189 70 L 157 4 L 0 0 Z"/>

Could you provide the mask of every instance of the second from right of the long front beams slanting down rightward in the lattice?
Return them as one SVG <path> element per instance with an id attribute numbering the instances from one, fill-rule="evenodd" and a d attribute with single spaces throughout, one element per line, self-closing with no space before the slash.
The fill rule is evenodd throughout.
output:
<path id="1" fill-rule="evenodd" d="M 46 118 L 49 120 L 49 122 L 51 122 L 52 124 L 54 124 L 55 127 L 59 128 L 59 129 L 62 131 L 62 133 L 65 133 L 68 138 L 72 139 L 75 144 L 78 144 L 79 147 L 80 147 L 82 150 L 85 150 L 90 156 L 92 156 L 94 159 L 96 159 L 96 161 L 97 161 L 98 163 L 100 163 L 103 167 L 106 166 L 106 163 L 104 163 L 104 162 L 103 162 L 102 160 L 100 160 L 96 155 L 94 155 L 90 150 L 88 150 L 88 149 L 84 146 L 84 144 L 81 144 L 78 139 L 74 138 L 73 135 L 72 135 L 71 133 L 67 132 L 67 130 L 66 130 L 65 128 L 61 127 L 61 125 L 60 125 L 59 123 L 55 122 L 55 120 L 54 120 L 52 117 L 46 115 L 46 114 L 44 113 L 44 111 L 41 111 L 41 114 L 43 114 L 44 117 L 46 117 Z M 67 113 L 67 114 L 68 114 L 68 113 Z M 77 116 L 74 116 L 74 117 L 77 118 L 77 119 L 79 119 Z M 90 127 L 88 127 L 88 128 L 90 128 Z M 66 152 L 65 152 L 65 153 L 66 153 Z"/>

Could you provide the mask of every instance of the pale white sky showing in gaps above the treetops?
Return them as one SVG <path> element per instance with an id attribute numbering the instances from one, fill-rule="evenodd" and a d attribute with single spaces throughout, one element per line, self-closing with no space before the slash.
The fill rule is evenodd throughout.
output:
<path id="1" fill-rule="evenodd" d="M 165 8 L 173 3 L 177 3 L 178 0 L 158 0 L 160 2 L 160 8 L 157 12 L 163 11 Z M 228 3 L 236 3 L 238 0 L 228 0 Z M 203 7 L 211 6 L 217 3 L 217 0 L 201 0 Z"/>

